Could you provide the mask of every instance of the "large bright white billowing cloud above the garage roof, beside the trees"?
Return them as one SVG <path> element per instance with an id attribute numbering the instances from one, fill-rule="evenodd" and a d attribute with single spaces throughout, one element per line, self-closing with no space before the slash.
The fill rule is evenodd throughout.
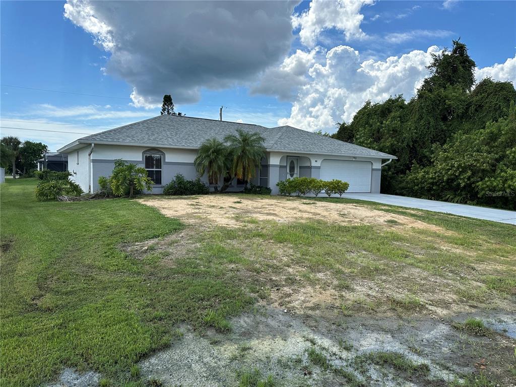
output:
<path id="1" fill-rule="evenodd" d="M 410 98 L 428 75 L 431 54 L 438 52 L 437 46 L 431 46 L 426 52 L 361 61 L 351 47 L 334 47 L 325 62 L 309 70 L 310 82 L 300 88 L 291 116 L 278 123 L 333 132 L 336 122 L 349 122 L 367 100 L 380 102 L 396 94 Z"/>

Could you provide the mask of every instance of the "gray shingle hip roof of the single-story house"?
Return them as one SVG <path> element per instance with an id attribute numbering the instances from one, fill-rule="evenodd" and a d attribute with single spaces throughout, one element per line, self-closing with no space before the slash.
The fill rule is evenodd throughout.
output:
<path id="1" fill-rule="evenodd" d="M 172 148 L 199 148 L 208 138 L 223 140 L 237 129 L 259 132 L 267 150 L 395 158 L 292 126 L 267 128 L 260 125 L 182 116 L 157 116 L 80 138 L 81 143 L 114 143 Z M 63 147 L 66 150 L 69 146 Z"/>

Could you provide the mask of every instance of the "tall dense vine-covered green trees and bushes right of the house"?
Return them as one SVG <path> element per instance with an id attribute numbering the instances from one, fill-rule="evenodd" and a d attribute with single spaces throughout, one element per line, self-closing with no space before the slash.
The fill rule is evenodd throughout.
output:
<path id="1" fill-rule="evenodd" d="M 514 85 L 475 84 L 459 41 L 428 68 L 409 102 L 368 101 L 333 137 L 398 157 L 382 170 L 382 192 L 516 209 Z"/>

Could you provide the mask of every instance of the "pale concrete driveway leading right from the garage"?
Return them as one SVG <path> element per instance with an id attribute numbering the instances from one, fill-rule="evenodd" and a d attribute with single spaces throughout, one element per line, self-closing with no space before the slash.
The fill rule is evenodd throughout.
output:
<path id="1" fill-rule="evenodd" d="M 516 211 L 508 211 L 506 209 L 438 202 L 436 200 L 408 198 L 405 196 L 384 195 L 383 193 L 345 193 L 342 197 L 516 224 Z"/>

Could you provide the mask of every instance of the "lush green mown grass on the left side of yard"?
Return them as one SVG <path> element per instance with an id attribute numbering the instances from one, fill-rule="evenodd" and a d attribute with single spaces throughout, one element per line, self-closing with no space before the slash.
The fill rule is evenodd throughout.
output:
<path id="1" fill-rule="evenodd" d="M 123 384 L 170 343 L 174 324 L 225 330 L 225 317 L 253 303 L 217 264 L 231 261 L 227 251 L 212 248 L 219 258 L 202 267 L 188 256 L 169 267 L 119 248 L 179 231 L 180 221 L 128 199 L 40 203 L 35 185 L 0 188 L 2 386 L 39 385 L 63 367 Z"/>

